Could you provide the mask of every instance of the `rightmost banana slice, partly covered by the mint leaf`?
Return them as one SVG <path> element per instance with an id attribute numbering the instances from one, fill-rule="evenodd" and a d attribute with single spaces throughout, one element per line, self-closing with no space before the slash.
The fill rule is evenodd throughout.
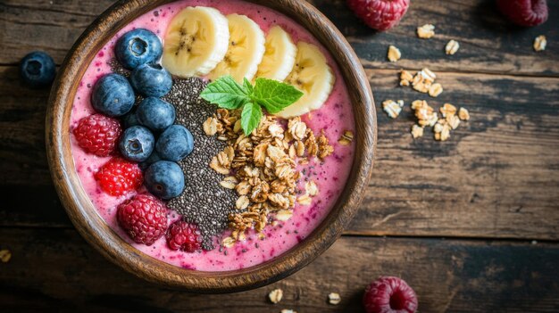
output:
<path id="1" fill-rule="evenodd" d="M 295 67 L 285 81 L 304 95 L 276 115 L 288 119 L 319 109 L 328 100 L 335 80 L 321 50 L 316 45 L 299 42 Z"/>

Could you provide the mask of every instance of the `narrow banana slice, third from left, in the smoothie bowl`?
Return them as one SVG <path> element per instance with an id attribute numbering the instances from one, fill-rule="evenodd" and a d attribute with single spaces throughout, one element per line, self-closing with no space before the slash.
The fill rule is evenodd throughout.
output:
<path id="1" fill-rule="evenodd" d="M 266 52 L 258 65 L 256 77 L 285 80 L 295 66 L 296 54 L 291 36 L 280 26 L 272 27 L 266 36 Z"/>

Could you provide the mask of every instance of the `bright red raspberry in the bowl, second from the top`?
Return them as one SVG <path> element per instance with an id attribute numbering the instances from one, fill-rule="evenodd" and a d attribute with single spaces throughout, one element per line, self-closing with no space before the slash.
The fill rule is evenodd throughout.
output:
<path id="1" fill-rule="evenodd" d="M 113 158 L 95 174 L 101 189 L 107 194 L 122 195 L 136 190 L 142 182 L 142 170 L 137 163 Z"/>

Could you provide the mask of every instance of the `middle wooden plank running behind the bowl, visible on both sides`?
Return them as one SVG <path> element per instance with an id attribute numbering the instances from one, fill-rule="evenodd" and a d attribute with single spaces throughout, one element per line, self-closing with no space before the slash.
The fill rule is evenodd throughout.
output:
<path id="1" fill-rule="evenodd" d="M 439 73 L 446 91 L 428 99 L 396 87 L 396 70 L 368 75 L 380 112 L 379 146 L 349 234 L 559 239 L 559 79 Z M 19 86 L 13 67 L 0 67 L 0 77 L 0 184 L 38 194 L 1 206 L 0 225 L 68 227 L 44 155 L 46 92 Z M 413 141 L 412 111 L 406 106 L 388 119 L 380 111 L 388 98 L 463 105 L 471 121 L 448 142 L 429 132 Z"/>

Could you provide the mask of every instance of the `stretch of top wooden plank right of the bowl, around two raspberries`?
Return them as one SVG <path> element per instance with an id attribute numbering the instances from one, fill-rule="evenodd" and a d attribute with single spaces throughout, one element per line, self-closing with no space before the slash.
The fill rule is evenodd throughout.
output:
<path id="1" fill-rule="evenodd" d="M 335 22 L 368 68 L 400 69 L 421 64 L 431 70 L 559 75 L 557 47 L 548 45 L 543 54 L 532 48 L 539 35 L 546 35 L 550 43 L 559 40 L 559 19 L 553 18 L 554 12 L 559 12 L 557 1 L 547 1 L 550 18 L 546 23 L 520 28 L 506 21 L 493 1 L 414 0 L 396 28 L 380 33 L 356 21 L 344 0 L 313 3 Z M 418 38 L 417 27 L 428 23 L 435 25 L 436 36 L 429 40 Z M 455 55 L 444 52 L 450 39 L 460 43 Z M 388 45 L 400 49 L 402 60 L 387 62 Z"/>

